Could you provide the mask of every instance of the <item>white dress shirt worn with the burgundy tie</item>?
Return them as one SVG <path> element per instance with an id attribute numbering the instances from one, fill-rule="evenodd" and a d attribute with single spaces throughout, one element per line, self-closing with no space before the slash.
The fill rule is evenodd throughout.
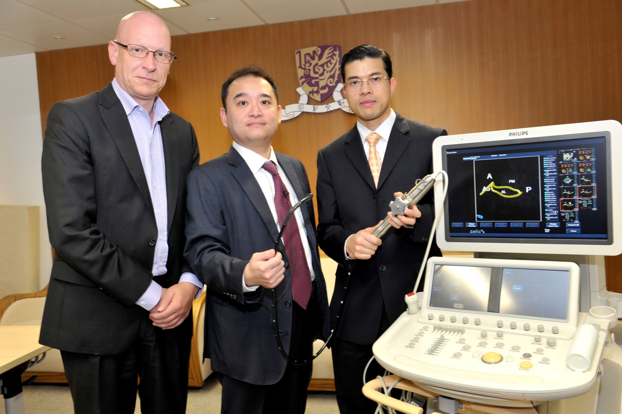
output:
<path id="1" fill-rule="evenodd" d="M 272 174 L 264 170 L 263 165 L 268 161 L 261 155 L 256 152 L 249 150 L 242 145 L 239 145 L 237 142 L 233 142 L 233 148 L 238 151 L 239 155 L 242 156 L 244 161 L 246 161 L 246 165 L 251 169 L 251 172 L 255 176 L 257 183 L 259 184 L 259 188 L 261 188 L 262 193 L 264 193 L 264 197 L 266 197 L 266 201 L 268 203 L 268 207 L 270 208 L 270 212 L 272 213 L 272 217 L 274 218 L 274 226 L 276 226 L 277 231 L 281 231 L 281 226 L 279 225 L 279 217 L 276 214 L 276 206 L 274 206 L 274 178 L 272 178 Z M 281 175 L 281 181 L 287 188 L 289 192 L 289 202 L 292 203 L 292 206 L 295 203 L 298 203 L 298 197 L 296 196 L 296 192 L 292 187 L 291 183 L 287 179 L 287 175 L 283 172 L 281 165 L 276 159 L 274 155 L 274 150 L 270 147 L 270 161 L 274 162 L 276 168 Z M 315 280 L 315 273 L 313 272 L 313 265 L 311 264 L 311 247 L 309 246 L 309 239 L 307 239 L 307 229 L 305 229 L 305 221 L 302 218 L 302 212 L 300 208 L 296 210 L 294 213 L 298 224 L 298 231 L 300 232 L 300 241 L 302 241 L 302 248 L 305 251 L 305 257 L 307 258 L 307 265 L 309 265 L 309 271 L 311 272 L 311 280 Z M 244 283 L 244 274 L 242 274 L 242 290 L 244 292 L 253 292 L 256 290 L 257 286 L 246 286 Z"/>

